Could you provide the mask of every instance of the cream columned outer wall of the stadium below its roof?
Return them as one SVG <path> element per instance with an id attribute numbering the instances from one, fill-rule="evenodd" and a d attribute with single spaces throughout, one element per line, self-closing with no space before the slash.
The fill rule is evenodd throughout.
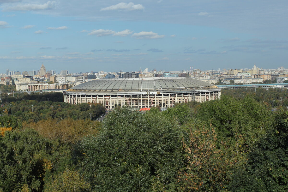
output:
<path id="1" fill-rule="evenodd" d="M 196 90 L 190 92 L 140 92 L 140 93 L 75 93 L 63 92 L 64 102 L 71 104 L 78 103 L 100 103 L 106 109 L 115 108 L 115 106 L 128 106 L 132 108 L 143 107 L 173 107 L 176 103 L 185 103 L 188 101 L 205 102 L 215 100 L 221 97 L 221 88 L 209 90 Z"/>

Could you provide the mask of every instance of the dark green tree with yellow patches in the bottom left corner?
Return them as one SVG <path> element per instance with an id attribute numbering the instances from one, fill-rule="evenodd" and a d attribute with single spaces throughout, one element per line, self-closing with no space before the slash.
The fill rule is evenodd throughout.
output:
<path id="1" fill-rule="evenodd" d="M 69 165 L 70 151 L 31 129 L 0 137 L 0 188 L 5 192 L 42 191 L 51 173 Z"/>

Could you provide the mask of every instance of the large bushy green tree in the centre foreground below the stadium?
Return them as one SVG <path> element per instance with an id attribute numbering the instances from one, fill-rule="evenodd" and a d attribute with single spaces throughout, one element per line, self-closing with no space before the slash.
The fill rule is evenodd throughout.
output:
<path id="1" fill-rule="evenodd" d="M 77 143 L 75 163 L 94 191 L 175 191 L 183 162 L 177 124 L 158 110 L 115 108 L 98 135 Z"/>

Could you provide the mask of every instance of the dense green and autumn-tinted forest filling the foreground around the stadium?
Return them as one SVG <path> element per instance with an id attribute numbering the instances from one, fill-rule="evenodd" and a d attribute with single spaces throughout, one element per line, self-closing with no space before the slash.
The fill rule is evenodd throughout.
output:
<path id="1" fill-rule="evenodd" d="M 286 97 L 223 89 L 162 112 L 116 107 L 102 123 L 101 104 L 2 93 L 0 191 L 288 191 Z"/>

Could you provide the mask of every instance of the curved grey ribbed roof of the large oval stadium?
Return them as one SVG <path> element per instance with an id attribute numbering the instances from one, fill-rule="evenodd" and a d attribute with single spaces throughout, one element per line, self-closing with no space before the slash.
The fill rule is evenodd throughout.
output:
<path id="1" fill-rule="evenodd" d="M 192 91 L 217 88 L 204 81 L 185 77 L 146 77 L 99 79 L 88 81 L 67 90 L 69 92 L 147 92 Z"/>

